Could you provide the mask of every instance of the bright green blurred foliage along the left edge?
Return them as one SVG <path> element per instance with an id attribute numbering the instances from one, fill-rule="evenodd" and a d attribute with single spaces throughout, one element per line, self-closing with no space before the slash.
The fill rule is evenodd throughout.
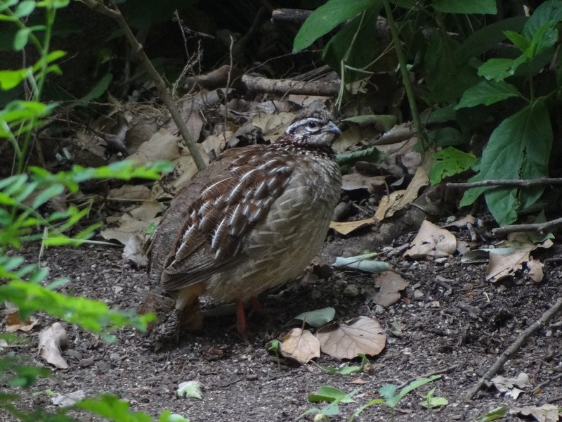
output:
<path id="1" fill-rule="evenodd" d="M 133 177 L 157 179 L 162 172 L 171 170 L 165 162 L 150 167 L 138 167 L 133 162 L 117 162 L 112 165 L 89 169 L 75 166 L 68 172 L 52 174 L 39 167 L 27 167 L 27 158 L 32 148 L 35 131 L 41 127 L 55 103 L 42 103 L 41 92 L 46 77 L 60 73 L 56 60 L 64 56 L 63 51 L 49 52 L 49 44 L 55 13 L 68 4 L 67 0 L 4 0 L 0 4 L 0 20 L 18 27 L 13 47 L 20 51 L 32 44 L 39 59 L 34 65 L 19 70 L 0 70 L 0 89 L 9 90 L 23 82 L 30 85 L 30 98 L 15 100 L 0 110 L 0 139 L 7 139 L 13 149 L 13 176 L 0 180 L 0 300 L 18 306 L 21 319 L 44 311 L 71 324 L 89 331 L 101 333 L 105 340 L 115 340 L 111 331 L 123 326 L 146 327 L 153 315 L 138 316 L 132 311 L 110 309 L 104 302 L 73 298 L 55 291 L 65 280 L 54 281 L 44 286 L 47 271 L 37 264 L 25 264 L 17 250 L 32 241 L 43 245 L 80 245 L 93 236 L 99 224 L 91 224 L 80 231 L 77 224 L 89 213 L 89 206 L 70 205 L 64 211 L 48 211 L 44 207 L 49 201 L 64 192 L 76 193 L 79 184 L 91 179 Z M 44 25 L 27 27 L 25 18 L 35 9 L 42 9 Z M 41 32 L 41 37 L 37 35 Z M 24 172 L 27 170 L 27 173 Z M 18 338 L 3 336 L 15 342 Z M 29 388 L 37 378 L 48 376 L 50 371 L 25 364 L 25 357 L 6 355 L 0 359 L 0 376 L 12 387 Z M 0 392 L 0 408 L 23 421 L 74 421 L 67 415 L 68 409 L 56 413 L 34 409 L 21 411 L 15 406 L 18 395 Z M 142 412 L 129 410 L 129 403 L 114 395 L 85 399 L 71 409 L 82 409 L 115 421 L 150 421 Z M 164 411 L 159 421 L 186 421 L 179 415 Z"/>

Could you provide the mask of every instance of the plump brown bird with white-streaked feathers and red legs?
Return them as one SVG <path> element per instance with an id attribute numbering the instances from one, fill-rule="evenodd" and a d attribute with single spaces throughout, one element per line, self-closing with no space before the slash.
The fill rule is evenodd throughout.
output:
<path id="1" fill-rule="evenodd" d="M 326 110 L 304 110 L 269 145 L 224 151 L 171 201 L 150 246 L 149 274 L 188 330 L 200 296 L 244 303 L 296 279 L 318 254 L 341 192 Z"/>

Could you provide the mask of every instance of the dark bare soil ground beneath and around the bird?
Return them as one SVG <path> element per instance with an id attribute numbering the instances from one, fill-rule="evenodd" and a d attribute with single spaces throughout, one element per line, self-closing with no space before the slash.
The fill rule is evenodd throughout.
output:
<path id="1" fill-rule="evenodd" d="M 353 245 L 360 236 L 361 233 L 348 238 L 332 235 L 329 250 L 358 252 Z M 393 245 L 372 245 L 372 250 L 398 247 L 410 241 L 411 236 L 397 238 Z M 457 236 L 464 234 L 461 231 Z M 539 258 L 556 257 L 559 252 L 551 248 Z M 121 253 L 119 248 L 99 246 L 53 248 L 46 251 L 42 262 L 50 269 L 50 280 L 70 278 L 65 293 L 100 299 L 124 309 L 138 307 L 149 290 L 146 275 L 142 269 L 124 264 Z M 325 260 L 329 260 L 326 255 Z M 37 250 L 27 251 L 27 257 L 37 261 Z M 413 276 L 410 287 L 395 305 L 387 309 L 374 305 L 375 289 L 369 274 L 333 271 L 322 279 L 317 273 L 325 271 L 311 270 L 303 279 L 263 298 L 264 305 L 278 312 L 250 319 L 254 335 L 249 343 L 233 330 L 234 316 L 208 318 L 204 332 L 179 337 L 174 321 L 160 326 L 150 338 L 123 329 L 113 344 L 76 326 L 67 326 L 70 347 L 63 356 L 70 368 L 55 370 L 53 376 L 41 379 L 30 391 L 21 391 L 23 403 L 25 407 L 54 409 L 45 390 L 62 394 L 84 390 L 89 397 L 113 392 L 128 399 L 132 409 L 153 417 L 170 409 L 191 421 L 294 421 L 315 405 L 307 401 L 307 396 L 320 386 L 333 385 L 346 392 L 360 388 L 355 402 L 341 404 L 341 413 L 332 418 L 339 421 L 377 397 L 384 383 L 405 385 L 416 378 L 443 373 L 443 378 L 411 392 L 398 404 L 396 421 L 478 421 L 501 405 L 561 405 L 561 316 L 532 337 L 501 371 L 506 377 L 527 373 L 531 388 L 525 388 L 518 399 L 490 388 L 479 392 L 471 402 L 463 401 L 499 354 L 556 300 L 561 281 L 558 264 L 545 265 L 541 283 L 517 274 L 514 279 L 492 285 L 484 280 L 485 264 L 462 264 L 459 256 L 439 263 L 405 260 L 401 255 L 388 261 Z M 348 294 L 354 290 L 348 288 L 350 285 L 358 288 L 358 295 Z M 336 309 L 338 321 L 366 315 L 378 319 L 386 328 L 386 349 L 371 359 L 367 371 L 351 376 L 328 375 L 321 366 L 339 366 L 342 362 L 322 356 L 316 364 L 286 366 L 268 354 L 266 343 L 285 333 L 287 328 L 283 326 L 293 316 L 328 306 Z M 41 324 L 28 334 L 30 345 L 18 352 L 30 354 L 35 363 L 45 365 L 35 352 L 37 335 L 51 322 L 41 317 Z M 204 386 L 202 399 L 176 397 L 178 384 L 191 380 Z M 540 384 L 540 392 L 533 394 Z M 447 398 L 449 404 L 433 411 L 422 408 L 421 396 L 430 388 L 436 388 L 435 395 Z M 40 393 L 32 395 L 33 392 Z M 1 414 L 0 419 L 11 420 Z M 307 416 L 305 420 L 312 419 Z M 82 415 L 80 420 L 97 419 Z M 388 421 L 391 413 L 375 405 L 355 420 Z M 512 415 L 503 420 L 530 419 Z"/>

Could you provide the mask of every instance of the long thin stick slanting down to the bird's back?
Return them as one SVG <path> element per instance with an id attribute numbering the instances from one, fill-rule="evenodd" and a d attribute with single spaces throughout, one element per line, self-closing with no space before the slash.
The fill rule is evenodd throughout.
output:
<path id="1" fill-rule="evenodd" d="M 148 56 L 146 56 L 142 44 L 137 41 L 136 37 L 131 31 L 131 28 L 129 27 L 129 25 L 127 25 L 126 20 L 123 18 L 121 11 L 119 11 L 117 4 L 112 1 L 113 8 L 108 8 L 107 6 L 105 6 L 105 4 L 98 0 L 82 0 L 82 2 L 89 8 L 92 8 L 93 10 L 98 11 L 103 15 L 109 16 L 119 24 L 119 27 L 121 27 L 125 34 L 125 38 L 127 39 L 127 41 L 129 41 L 129 44 L 131 44 L 133 50 L 138 54 L 138 57 L 141 58 L 143 67 L 155 82 L 160 98 L 162 98 L 162 101 L 164 101 L 164 104 L 166 104 L 171 117 L 174 119 L 174 122 L 176 122 L 183 142 L 185 143 L 185 146 L 188 147 L 193 161 L 195 161 L 195 165 L 197 165 L 197 169 L 204 169 L 204 167 L 206 167 L 206 164 L 203 160 L 203 157 L 199 151 L 199 148 L 197 148 L 197 144 L 191 138 L 188 127 L 185 125 L 185 122 L 181 117 L 180 110 L 178 109 L 178 106 L 176 105 L 174 99 L 171 97 L 168 88 L 166 87 L 166 82 L 164 82 L 164 79 L 162 79 L 158 71 L 150 62 Z"/>

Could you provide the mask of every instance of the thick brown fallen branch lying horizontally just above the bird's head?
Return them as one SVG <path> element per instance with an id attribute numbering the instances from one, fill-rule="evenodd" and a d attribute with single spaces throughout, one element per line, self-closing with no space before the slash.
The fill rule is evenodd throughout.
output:
<path id="1" fill-rule="evenodd" d="M 259 76 L 242 76 L 242 84 L 248 91 L 268 92 L 271 94 L 298 94 L 334 96 L 338 93 L 339 81 L 305 82 L 294 79 L 268 79 Z"/>

